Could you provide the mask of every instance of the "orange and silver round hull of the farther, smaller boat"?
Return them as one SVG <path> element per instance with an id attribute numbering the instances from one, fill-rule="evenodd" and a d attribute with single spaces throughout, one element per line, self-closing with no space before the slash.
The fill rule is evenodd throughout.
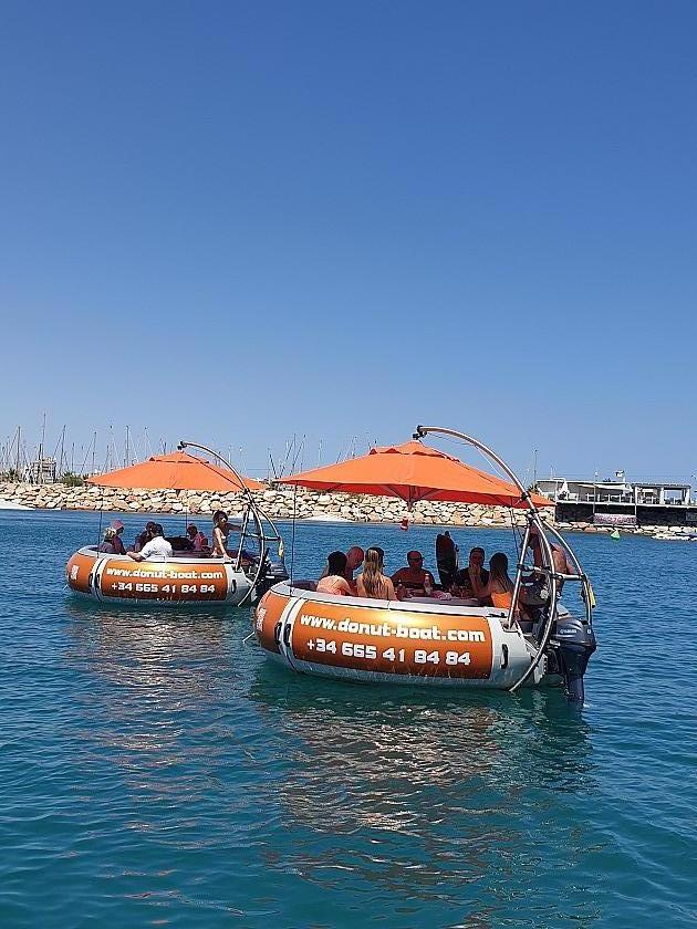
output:
<path id="1" fill-rule="evenodd" d="M 70 589 L 98 603 L 129 606 L 238 606 L 250 598 L 243 571 L 217 559 L 137 562 L 80 549 L 65 566 Z"/>

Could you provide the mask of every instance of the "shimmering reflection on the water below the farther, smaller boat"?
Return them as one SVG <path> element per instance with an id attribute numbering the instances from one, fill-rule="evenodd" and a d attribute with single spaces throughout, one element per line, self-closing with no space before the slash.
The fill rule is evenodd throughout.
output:
<path id="1" fill-rule="evenodd" d="M 81 603 L 65 612 L 71 622 L 63 661 L 83 680 L 74 703 L 83 760 L 98 763 L 107 752 L 136 795 L 201 798 L 231 738 L 215 710 L 225 702 L 226 683 L 235 686 L 233 627 L 212 613 Z M 150 827 L 146 821 L 133 825 Z"/>

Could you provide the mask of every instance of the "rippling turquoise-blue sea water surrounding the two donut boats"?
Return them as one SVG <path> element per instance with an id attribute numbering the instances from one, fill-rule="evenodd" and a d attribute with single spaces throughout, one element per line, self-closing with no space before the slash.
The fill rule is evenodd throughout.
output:
<path id="1" fill-rule="evenodd" d="M 0 926 L 695 925 L 697 545 L 572 537 L 599 599 L 579 712 L 294 676 L 249 610 L 76 603 L 96 529 L 0 513 Z M 354 542 L 433 566 L 435 532 L 301 525 L 295 575 Z"/>

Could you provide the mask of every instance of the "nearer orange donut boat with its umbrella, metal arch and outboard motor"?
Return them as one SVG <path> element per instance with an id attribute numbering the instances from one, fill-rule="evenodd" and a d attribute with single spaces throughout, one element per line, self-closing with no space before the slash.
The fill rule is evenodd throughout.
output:
<path id="1" fill-rule="evenodd" d="M 477 601 L 455 599 L 447 593 L 408 601 L 335 596 L 309 589 L 306 582 L 293 586 L 290 581 L 272 586 L 257 606 L 259 645 L 269 657 L 301 674 L 372 683 L 511 691 L 526 685 L 564 685 L 570 699 L 582 701 L 583 676 L 595 650 L 594 598 L 568 543 L 540 518 L 538 507 L 549 501 L 529 493 L 501 459 L 476 439 L 422 426 L 414 438 L 427 432 L 454 436 L 475 446 L 502 468 L 511 482 L 420 442 L 373 449 L 364 458 L 295 474 L 284 482 L 384 493 L 408 502 L 428 498 L 527 509 L 520 564 L 512 593 L 504 597 L 510 606 L 478 606 Z M 541 555 L 524 564 L 533 547 Z M 564 573 L 555 566 L 555 550 L 565 553 Z M 523 575 L 528 574 L 547 585 L 545 605 L 537 610 L 534 620 L 522 619 L 519 608 Z M 581 617 L 572 616 L 558 602 L 561 586 L 573 581 L 582 588 Z"/>

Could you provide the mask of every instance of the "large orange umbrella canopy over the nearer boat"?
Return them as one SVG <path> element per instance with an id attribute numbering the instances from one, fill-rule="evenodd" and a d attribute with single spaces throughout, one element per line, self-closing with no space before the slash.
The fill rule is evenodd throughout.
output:
<path id="1" fill-rule="evenodd" d="M 312 490 L 400 497 L 409 505 L 418 500 L 440 500 L 518 509 L 527 507 L 514 484 L 418 441 L 372 448 L 361 458 L 293 474 L 283 478 L 281 483 Z M 553 505 L 545 497 L 537 493 L 531 497 L 537 507 Z"/>

